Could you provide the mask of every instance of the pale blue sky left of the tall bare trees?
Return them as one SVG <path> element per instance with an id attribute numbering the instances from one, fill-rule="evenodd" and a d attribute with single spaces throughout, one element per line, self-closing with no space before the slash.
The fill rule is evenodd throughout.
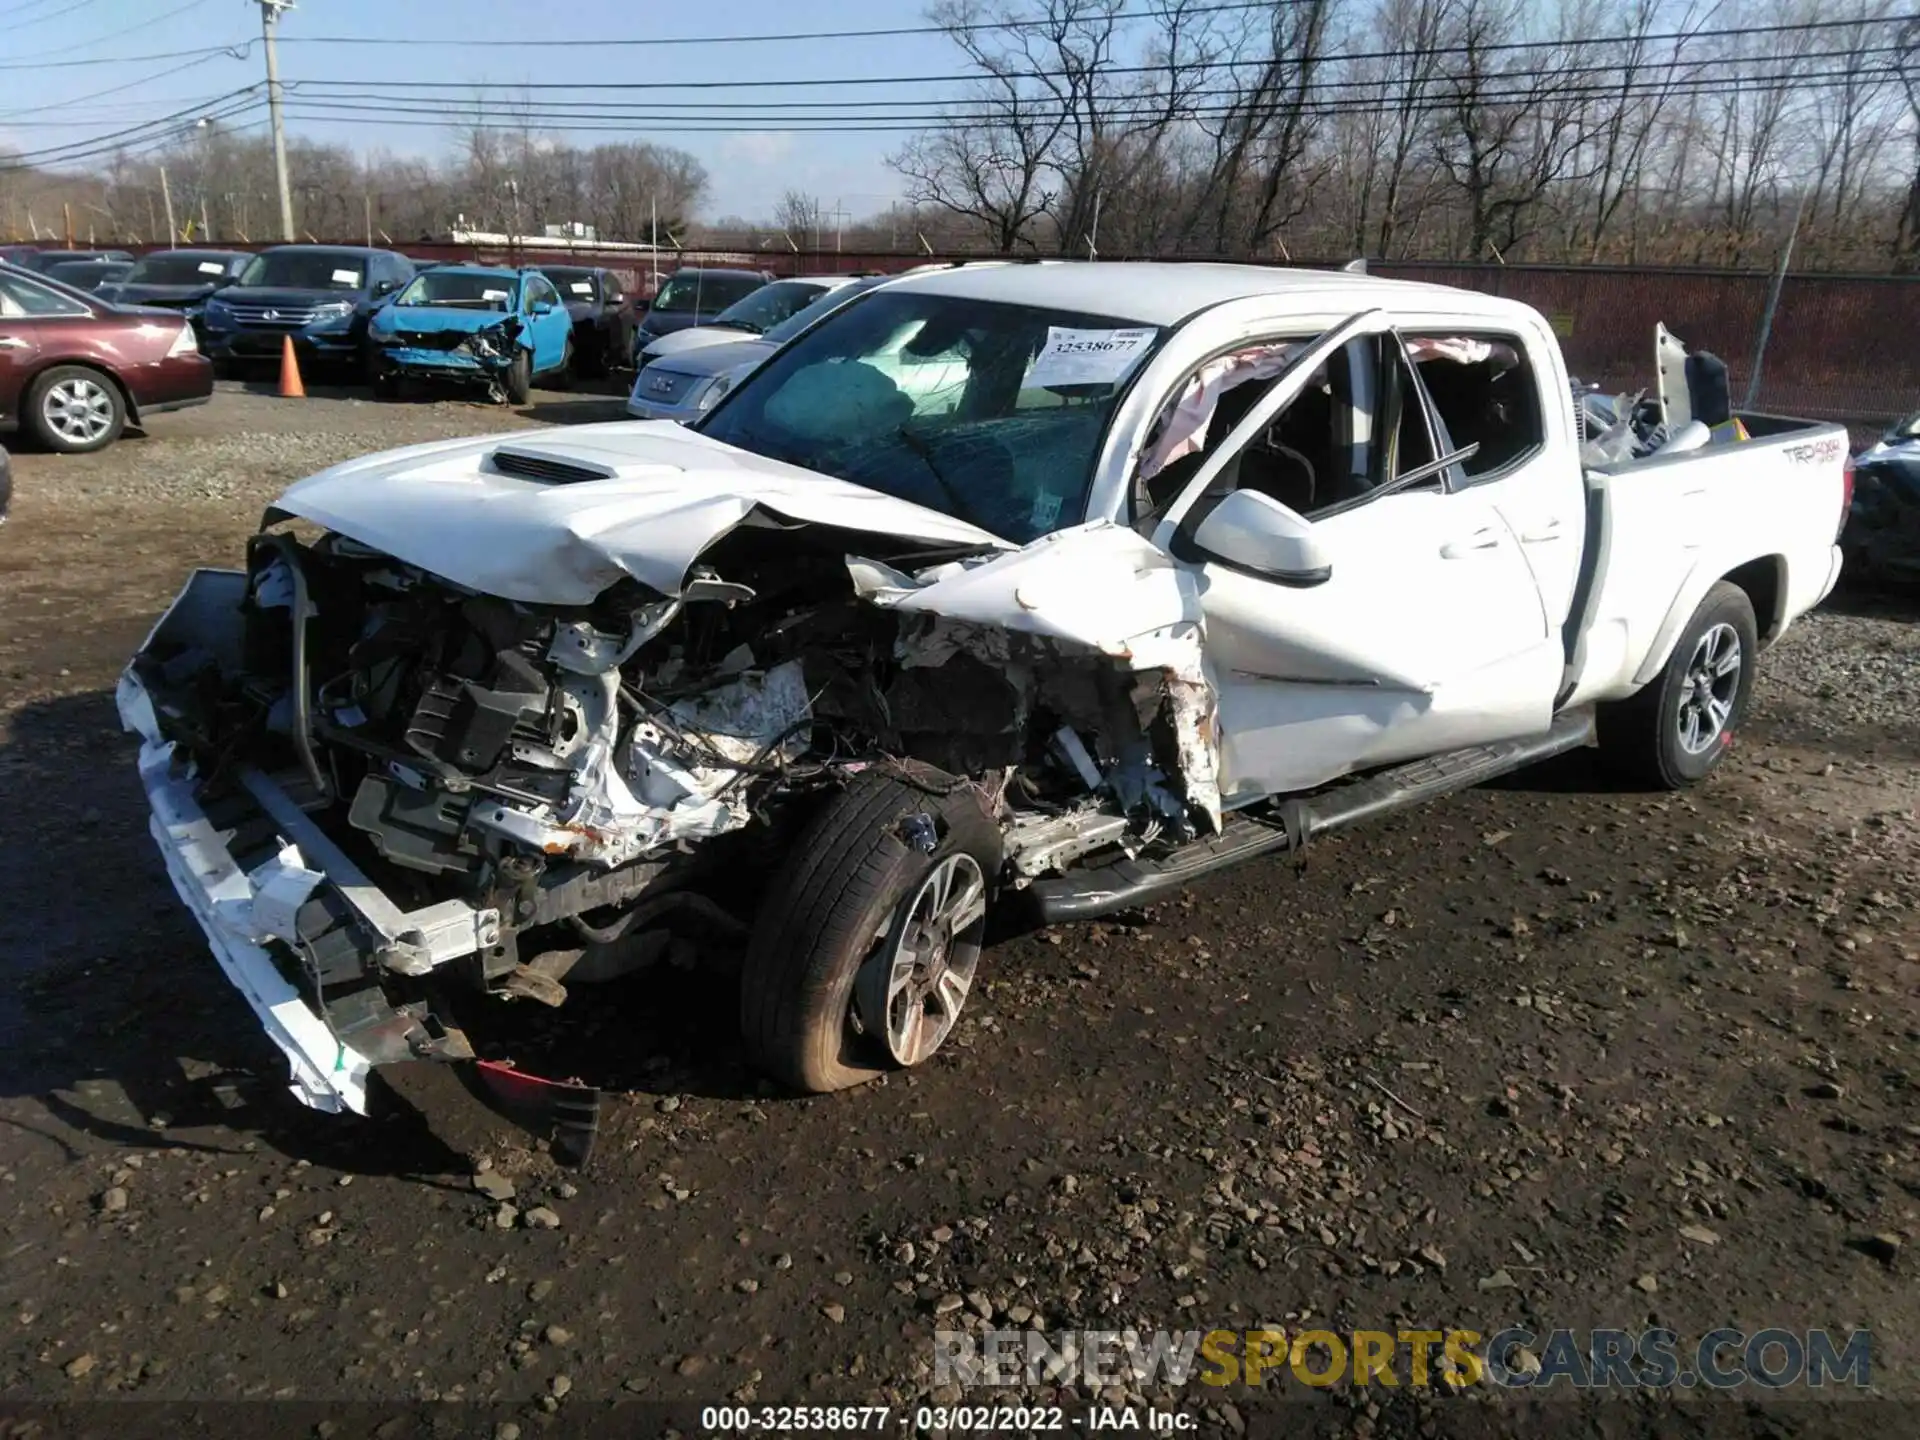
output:
<path id="1" fill-rule="evenodd" d="M 922 25 L 920 0 L 730 0 L 716 6 L 659 0 L 298 0 L 280 25 L 280 77 L 290 86 L 288 132 L 344 142 L 357 150 L 440 154 L 451 134 L 438 127 L 386 127 L 298 117 L 300 81 L 449 81 L 516 86 L 538 81 L 568 84 L 620 81 L 770 81 L 801 77 L 950 75 L 960 69 L 954 46 L 939 35 L 864 40 L 778 40 L 724 46 L 582 46 L 578 50 L 455 48 L 461 38 L 664 38 L 701 35 L 780 35 Z M 311 44 L 303 36 L 380 38 L 378 46 Z M 40 150 L 154 121 L 263 79 L 259 44 L 246 60 L 156 60 L 173 50 L 238 44 L 259 38 L 253 0 L 0 0 L 0 144 Z M 73 65 L 129 56 L 117 63 Z M 61 67 L 65 63 L 65 67 Z M 138 84 L 132 84 L 136 83 Z M 119 86 L 129 86 L 119 90 Z M 860 100 L 925 100 L 952 86 L 860 86 Z M 117 90 L 115 94 L 102 94 Z M 313 94 L 311 90 L 307 94 Z M 449 102 L 465 90 L 432 92 Z M 88 98 L 96 96 L 96 98 Z M 607 92 L 551 92 L 580 102 Z M 664 100 L 835 100 L 814 90 L 685 90 L 622 96 L 624 104 Z M 843 205 L 851 215 L 885 209 L 900 198 L 885 154 L 902 134 L 670 134 L 660 129 L 582 132 L 578 144 L 655 140 L 682 146 L 705 161 L 712 184 L 708 217 L 772 211 L 789 186 Z"/>

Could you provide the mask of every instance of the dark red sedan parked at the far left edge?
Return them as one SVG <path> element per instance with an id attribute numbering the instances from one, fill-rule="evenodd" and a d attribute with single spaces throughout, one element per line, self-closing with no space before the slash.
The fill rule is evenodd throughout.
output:
<path id="1" fill-rule="evenodd" d="M 79 455 L 211 396 L 213 365 L 179 311 L 113 305 L 0 263 L 0 426 Z"/>

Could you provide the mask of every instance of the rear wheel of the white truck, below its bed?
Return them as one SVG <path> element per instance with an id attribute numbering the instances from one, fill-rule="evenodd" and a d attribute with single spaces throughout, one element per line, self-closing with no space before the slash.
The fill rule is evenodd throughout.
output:
<path id="1" fill-rule="evenodd" d="M 1705 780 L 1747 718 L 1759 649 L 1753 601 L 1720 580 L 1686 622 L 1661 674 L 1638 695 L 1601 707 L 1607 768 L 1651 789 Z"/>

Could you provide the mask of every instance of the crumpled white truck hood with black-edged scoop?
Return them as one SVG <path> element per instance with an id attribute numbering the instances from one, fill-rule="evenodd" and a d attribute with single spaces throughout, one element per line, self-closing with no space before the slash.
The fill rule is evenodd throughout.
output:
<path id="1" fill-rule="evenodd" d="M 505 472 L 495 451 L 603 478 L 530 480 Z M 678 595 L 701 551 L 755 518 L 1012 549 L 939 511 L 670 420 L 409 445 L 300 480 L 273 509 L 468 589 L 536 605 L 588 605 L 620 576 Z"/>

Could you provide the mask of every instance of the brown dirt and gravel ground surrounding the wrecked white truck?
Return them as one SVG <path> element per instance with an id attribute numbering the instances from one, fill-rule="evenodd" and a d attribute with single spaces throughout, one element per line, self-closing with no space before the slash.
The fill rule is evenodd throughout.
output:
<path id="1" fill-rule="evenodd" d="M 931 1331 L 991 1311 L 1862 1327 L 1874 1390 L 1920 1402 L 1912 611 L 1809 620 L 1688 797 L 1609 793 L 1571 756 L 1127 924 L 1014 937 L 912 1077 L 774 1094 L 739 1064 L 728 985 L 678 973 L 586 1020 L 630 1087 L 586 1171 L 445 1071 L 401 1075 L 411 1106 L 380 1121 L 301 1112 L 161 876 L 113 678 L 286 482 L 616 417 L 223 386 L 102 455 L 15 459 L 0 1394 L 324 1402 L 301 1434 L 422 1398 L 555 1434 L 634 1396 L 900 1407 L 933 1390 Z M 518 1223 L 476 1167 L 513 1183 Z M 536 1206 L 557 1227 L 528 1227 Z M 1283 1388 L 1308 1396 L 1288 1423 L 1354 1434 L 1486 1398 Z M 1569 1400 L 1551 1432 L 1692 1434 L 1711 1409 L 1740 1432 L 1899 1434 L 1920 1413 L 1751 1394 Z M 1206 1430 L 1260 1411 L 1198 1384 L 1146 1400 Z"/>

